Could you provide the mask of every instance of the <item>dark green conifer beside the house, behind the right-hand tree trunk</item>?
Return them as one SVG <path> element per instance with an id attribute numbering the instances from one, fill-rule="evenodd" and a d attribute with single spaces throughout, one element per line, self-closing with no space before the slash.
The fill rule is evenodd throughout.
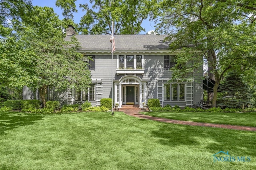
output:
<path id="1" fill-rule="evenodd" d="M 242 80 L 239 70 L 228 72 L 222 87 L 221 105 L 231 108 L 243 108 L 250 104 L 251 92 L 250 87 Z"/>

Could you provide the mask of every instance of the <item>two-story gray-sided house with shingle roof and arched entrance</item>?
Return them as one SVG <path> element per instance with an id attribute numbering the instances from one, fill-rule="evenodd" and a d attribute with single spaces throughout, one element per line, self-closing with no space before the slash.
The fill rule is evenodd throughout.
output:
<path id="1" fill-rule="evenodd" d="M 69 29 L 72 29 L 70 27 Z M 59 100 L 62 104 L 83 103 L 86 100 L 92 106 L 100 106 L 100 99 L 112 98 L 114 104 L 138 105 L 147 103 L 148 99 L 159 99 L 165 106 L 192 107 L 203 100 L 202 72 L 195 73 L 194 78 L 183 83 L 168 83 L 172 77 L 169 70 L 176 63 L 178 50 L 171 53 L 167 35 L 115 35 L 116 51 L 111 55 L 111 35 L 73 35 L 81 43 L 80 53 L 92 56 L 90 63 L 92 86 L 85 93 L 79 89 L 54 92 L 49 89 L 48 100 Z M 113 74 L 112 74 L 113 68 Z M 113 82 L 112 82 L 113 77 Z M 32 92 L 24 87 L 23 99 L 33 99 Z M 38 96 L 37 96 L 38 97 Z"/>

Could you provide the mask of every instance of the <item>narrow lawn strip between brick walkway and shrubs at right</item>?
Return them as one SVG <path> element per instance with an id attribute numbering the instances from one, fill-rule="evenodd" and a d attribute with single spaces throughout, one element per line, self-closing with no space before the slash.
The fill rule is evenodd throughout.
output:
<path id="1" fill-rule="evenodd" d="M 164 117 L 168 119 L 241 125 L 256 127 L 256 113 L 208 113 L 208 112 L 143 112 L 145 115 Z"/>

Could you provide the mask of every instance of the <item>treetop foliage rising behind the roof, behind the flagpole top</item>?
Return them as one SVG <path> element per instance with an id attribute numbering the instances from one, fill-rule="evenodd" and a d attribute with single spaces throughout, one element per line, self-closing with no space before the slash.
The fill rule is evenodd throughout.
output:
<path id="1" fill-rule="evenodd" d="M 80 21 L 82 34 L 111 33 L 111 23 L 106 21 L 114 21 L 115 34 L 138 34 L 145 31 L 141 26 L 142 21 L 150 16 L 156 1 L 97 0 L 90 3 L 92 8 L 89 8 L 91 5 L 80 4 L 85 12 Z"/>

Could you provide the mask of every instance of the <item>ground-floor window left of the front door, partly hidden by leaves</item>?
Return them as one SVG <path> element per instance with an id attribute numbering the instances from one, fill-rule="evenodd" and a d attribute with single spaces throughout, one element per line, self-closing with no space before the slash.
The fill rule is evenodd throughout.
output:
<path id="1" fill-rule="evenodd" d="M 94 101 L 95 100 L 95 84 L 92 84 L 88 88 L 87 92 L 85 90 L 74 89 L 74 100 L 75 101 Z"/>

